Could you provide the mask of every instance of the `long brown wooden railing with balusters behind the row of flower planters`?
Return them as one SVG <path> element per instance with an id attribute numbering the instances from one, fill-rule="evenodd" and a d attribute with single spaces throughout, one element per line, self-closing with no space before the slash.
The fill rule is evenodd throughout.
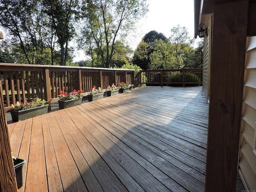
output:
<path id="1" fill-rule="evenodd" d="M 16 101 L 35 95 L 48 101 L 50 110 L 60 90 L 84 90 L 87 95 L 94 85 L 104 90 L 113 83 L 134 84 L 134 70 L 0 63 L 0 80 L 6 112 Z"/>

